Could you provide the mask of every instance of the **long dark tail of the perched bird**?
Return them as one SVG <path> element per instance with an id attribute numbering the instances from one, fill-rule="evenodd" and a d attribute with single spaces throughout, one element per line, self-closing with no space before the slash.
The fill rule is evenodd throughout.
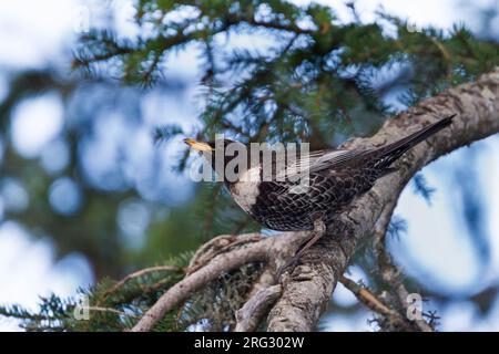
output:
<path id="1" fill-rule="evenodd" d="M 398 142 L 389 144 L 387 146 L 383 146 L 378 149 L 375 149 L 373 154 L 375 154 L 374 159 L 376 160 L 376 165 L 379 168 L 388 168 L 395 160 L 397 160 L 405 152 L 427 139 L 429 136 L 436 134 L 437 132 L 444 129 L 452 123 L 452 118 L 456 114 L 452 114 L 448 117 L 445 117 L 437 123 L 430 124 L 419 132 L 416 132 L 411 135 L 401 138 Z"/>

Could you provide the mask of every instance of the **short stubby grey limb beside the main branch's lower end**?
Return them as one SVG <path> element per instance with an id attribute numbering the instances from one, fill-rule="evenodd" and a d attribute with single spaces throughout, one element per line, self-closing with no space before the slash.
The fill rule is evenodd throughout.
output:
<path id="1" fill-rule="evenodd" d="M 253 332 L 258 327 L 262 319 L 268 313 L 268 309 L 281 296 L 281 284 L 265 288 L 255 293 L 246 303 L 236 311 L 237 324 L 235 332 Z"/>

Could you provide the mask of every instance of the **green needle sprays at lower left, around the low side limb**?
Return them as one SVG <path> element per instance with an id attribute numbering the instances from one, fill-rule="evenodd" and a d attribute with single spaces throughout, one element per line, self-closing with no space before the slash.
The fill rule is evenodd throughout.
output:
<path id="1" fill-rule="evenodd" d="M 92 289 L 80 289 L 74 299 L 55 294 L 40 298 L 35 312 L 19 305 L 0 306 L 0 315 L 18 320 L 27 331 L 130 330 L 169 288 L 182 280 L 191 258 L 191 252 L 182 253 L 165 264 L 141 270 L 121 282 L 105 279 Z M 245 294 L 259 270 L 259 264 L 247 264 L 221 274 L 203 290 L 193 293 L 180 309 L 169 312 L 155 330 L 224 331 L 233 327 L 234 312 L 244 304 Z"/>

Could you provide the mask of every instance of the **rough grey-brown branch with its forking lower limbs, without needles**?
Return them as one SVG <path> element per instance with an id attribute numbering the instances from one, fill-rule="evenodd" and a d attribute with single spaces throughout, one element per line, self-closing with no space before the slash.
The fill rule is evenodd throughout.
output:
<path id="1" fill-rule="evenodd" d="M 265 288 L 273 284 L 273 274 L 294 254 L 307 236 L 306 232 L 286 232 L 272 238 L 261 238 L 257 233 L 246 235 L 243 238 L 251 242 L 238 241 L 236 248 L 233 248 L 231 242 L 221 242 L 223 247 L 214 252 L 213 257 L 196 254 L 196 264 L 192 272 L 187 272 L 184 280 L 164 293 L 132 331 L 151 330 L 190 293 L 216 279 L 223 271 L 254 261 L 264 261 L 267 264 L 248 295 L 248 302 L 238 312 L 237 330 L 255 329 L 262 314 L 265 314 L 278 294 L 281 298 L 267 317 L 267 330 L 314 330 L 356 250 L 358 240 L 376 233 L 379 242 L 384 241 L 380 233 L 386 231 L 391 211 L 409 179 L 439 156 L 499 132 L 499 67 L 473 83 L 449 88 L 425 100 L 387 121 L 373 137 L 357 138 L 344 144 L 345 148 L 385 145 L 451 114 L 457 116 L 450 128 L 439 132 L 406 153 L 397 162 L 398 170 L 379 179 L 371 190 L 339 215 L 334 225 L 328 226 L 327 235 L 303 254 L 293 274 L 281 285 L 265 291 Z M 231 236 L 221 237 L 225 241 L 231 238 L 234 239 Z M 210 247 L 205 249 L 216 243 L 211 241 Z M 381 246 L 377 247 L 383 250 Z M 390 274 L 387 273 L 388 275 Z M 405 289 L 399 290 L 399 296 L 403 296 Z M 424 323 L 419 327 L 422 331 L 428 330 Z"/>

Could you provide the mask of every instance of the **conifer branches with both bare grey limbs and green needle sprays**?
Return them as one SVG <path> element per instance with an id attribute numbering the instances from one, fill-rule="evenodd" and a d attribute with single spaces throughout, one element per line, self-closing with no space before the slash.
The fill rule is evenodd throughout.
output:
<path id="1" fill-rule="evenodd" d="M 337 136 L 366 135 L 378 129 L 393 112 L 380 97 L 393 93 L 394 87 L 407 88 L 400 103 L 415 107 L 387 122 L 376 136 L 348 142 L 344 147 L 383 145 L 405 135 L 407 129 L 456 113 L 451 129 L 440 133 L 438 140 L 431 138 L 409 152 L 399 160 L 397 173 L 384 177 L 352 209 L 339 215 L 328 235 L 304 254 L 293 274 L 281 284 L 274 285 L 275 274 L 308 233 L 284 233 L 272 239 L 259 233 L 223 235 L 201 247 L 190 262 L 176 257 L 182 262 L 172 263 L 172 268 L 145 269 L 114 284 L 100 282 L 82 294 L 90 296 L 94 309 L 111 311 L 98 310 L 85 323 L 71 317 L 74 301 L 58 296 L 42 299 L 40 316 L 21 308 L 0 306 L 0 314 L 24 317 L 26 327 L 33 330 L 121 331 L 135 324 L 134 315 L 129 319 L 121 314 L 140 315 L 150 309 L 134 327 L 144 331 L 185 330 L 200 320 L 215 323 L 208 329 L 235 325 L 236 330 L 255 330 L 268 313 L 269 331 L 310 331 L 358 241 L 373 238 L 377 270 L 393 299 L 386 301 L 384 293 L 377 299 L 374 292 L 344 281 L 366 304 L 389 319 L 385 323 L 388 327 L 431 329 L 432 314 L 428 315 L 429 324 L 422 320 L 407 324 L 403 313 L 408 287 L 386 249 L 385 238 L 387 230 L 390 233 L 390 219 L 394 225 L 391 215 L 400 190 L 419 168 L 499 131 L 499 70 L 477 81 L 479 74 L 497 65 L 497 43 L 479 40 L 460 27 L 449 33 L 432 28 L 409 31 L 405 21 L 378 13 L 378 19 L 395 29 L 395 35 L 386 35 L 378 21 L 363 23 L 352 3 L 347 7 L 355 21 L 345 24 L 327 6 L 298 7 L 286 0 L 249 2 L 139 1 L 139 34 L 125 40 L 111 31 L 92 30 L 81 37 L 73 66 L 90 74 L 103 69 L 110 77 L 149 85 L 163 77 L 166 58 L 186 48 L 201 48 L 204 72 L 200 85 L 207 87 L 208 93 L 200 116 L 198 138 L 212 138 L 226 131 L 244 142 L 310 142 L 318 145 L 313 148 L 327 148 Z M 183 10 L 191 14 L 184 17 Z M 264 34 L 272 41 L 262 52 L 221 45 L 220 39 L 233 34 Z M 376 77 L 387 70 L 395 72 L 391 79 Z M 40 77 L 13 86 L 32 87 L 40 82 Z M 471 83 L 436 95 L 462 82 Z M 7 102 L 8 107 L 14 103 Z M 154 136 L 166 142 L 180 134 L 180 126 L 169 125 L 156 129 Z M 184 154 L 180 169 L 186 159 Z M 429 198 L 431 189 L 424 179 L 414 180 L 417 190 Z M 230 232 L 226 225 L 220 231 L 216 222 L 222 219 L 220 212 L 230 214 L 221 202 L 225 199 L 217 198 L 215 202 L 213 195 L 203 197 L 200 199 L 211 204 L 203 210 L 210 212 L 200 229 L 210 236 Z M 244 221 L 238 227 L 244 228 Z M 242 267 L 247 263 L 251 264 Z M 160 293 L 163 295 L 157 300 Z"/>

